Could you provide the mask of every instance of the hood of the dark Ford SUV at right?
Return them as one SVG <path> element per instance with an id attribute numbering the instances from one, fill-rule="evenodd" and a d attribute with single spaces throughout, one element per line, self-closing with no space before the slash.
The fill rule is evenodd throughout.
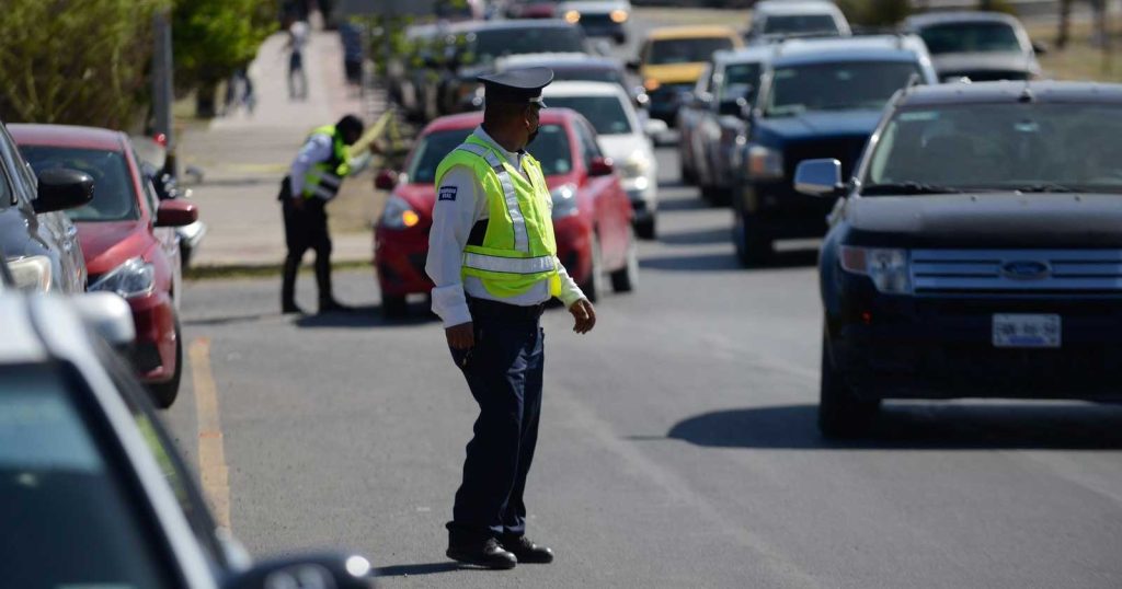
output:
<path id="1" fill-rule="evenodd" d="M 845 203 L 854 242 L 895 247 L 1122 247 L 1122 194 L 864 196 Z"/>

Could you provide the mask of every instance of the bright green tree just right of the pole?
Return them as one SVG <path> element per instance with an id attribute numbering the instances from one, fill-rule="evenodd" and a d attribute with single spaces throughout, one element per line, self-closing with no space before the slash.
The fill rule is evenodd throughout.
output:
<path id="1" fill-rule="evenodd" d="M 197 114 L 214 114 L 218 83 L 247 65 L 276 30 L 276 0 L 174 0 L 175 84 L 195 90 Z"/>

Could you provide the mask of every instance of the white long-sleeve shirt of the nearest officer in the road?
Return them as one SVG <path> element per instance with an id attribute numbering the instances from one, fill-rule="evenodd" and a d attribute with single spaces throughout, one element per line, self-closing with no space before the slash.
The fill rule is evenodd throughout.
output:
<path id="1" fill-rule="evenodd" d="M 522 173 L 522 154 L 507 151 L 477 127 L 475 137 L 494 147 L 506 157 L 507 162 Z M 436 194 L 453 194 L 453 199 L 436 199 L 432 210 L 432 231 L 429 233 L 429 258 L 425 261 L 425 273 L 432 278 L 435 288 L 432 289 L 432 311 L 440 315 L 444 326 L 459 325 L 471 321 L 467 295 L 473 298 L 499 301 L 512 305 L 531 306 L 550 300 L 549 280 L 542 280 L 530 291 L 511 298 L 498 298 L 487 292 L 482 280 L 468 276 L 461 282 L 460 270 L 463 266 L 463 248 L 468 245 L 468 236 L 477 222 L 490 215 L 487 205 L 487 193 L 476 178 L 475 172 L 467 166 L 453 166 L 441 178 Z M 554 258 L 555 259 L 555 258 Z M 565 307 L 585 297 L 577 283 L 565 272 L 561 260 L 555 259 L 561 275 L 561 295 L 559 298 Z"/>

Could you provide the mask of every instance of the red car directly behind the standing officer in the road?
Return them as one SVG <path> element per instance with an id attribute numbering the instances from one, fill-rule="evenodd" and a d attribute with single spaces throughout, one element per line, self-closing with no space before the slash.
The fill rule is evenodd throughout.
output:
<path id="1" fill-rule="evenodd" d="M 432 121 L 417 137 L 405 172 L 383 171 L 377 176 L 378 188 L 393 190 L 374 228 L 375 268 L 383 311 L 389 316 L 405 312 L 406 295 L 432 289 L 424 266 L 436 166 L 481 122 L 480 112 Z M 597 147 L 592 126 L 569 109 L 545 109 L 530 151 L 541 162 L 553 195 L 558 258 L 585 295 L 595 301 L 606 276 L 616 292 L 634 288 L 638 272 L 634 213 L 610 160 Z"/>

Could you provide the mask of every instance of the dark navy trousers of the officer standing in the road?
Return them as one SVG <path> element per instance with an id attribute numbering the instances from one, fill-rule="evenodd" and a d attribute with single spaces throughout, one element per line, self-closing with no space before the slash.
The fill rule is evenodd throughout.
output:
<path id="1" fill-rule="evenodd" d="M 452 350 L 452 359 L 479 403 L 479 418 L 448 524 L 452 545 L 525 533 L 523 493 L 542 409 L 542 306 L 480 300 L 469 306 L 476 344 L 469 352 Z"/>

